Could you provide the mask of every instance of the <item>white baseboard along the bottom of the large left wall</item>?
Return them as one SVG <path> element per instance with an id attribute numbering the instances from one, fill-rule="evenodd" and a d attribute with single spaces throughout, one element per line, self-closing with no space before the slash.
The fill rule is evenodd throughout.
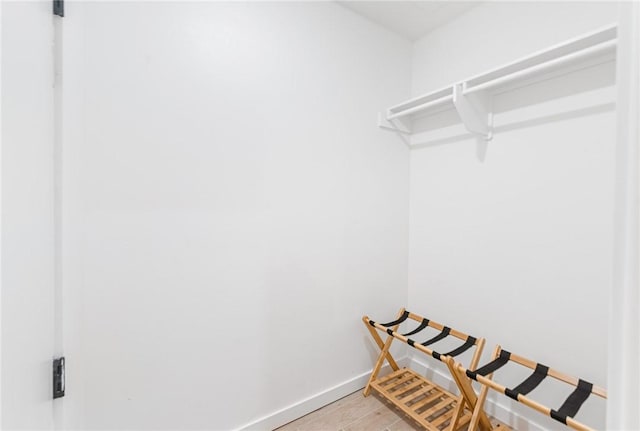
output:
<path id="1" fill-rule="evenodd" d="M 402 357 L 398 360 L 398 365 L 404 367 L 407 365 L 407 357 Z M 383 373 L 387 371 L 388 365 L 383 367 Z M 273 430 L 282 425 L 285 425 L 293 420 L 296 420 L 306 414 L 309 414 L 321 407 L 331 404 L 334 401 L 339 400 L 349 394 L 356 392 L 364 388 L 369 380 L 371 371 L 362 373 L 355 376 L 345 382 L 339 383 L 333 387 L 325 389 L 315 395 L 305 398 L 297 403 L 291 404 L 283 409 L 277 410 L 266 416 L 258 418 L 246 425 L 236 428 L 235 431 L 254 431 L 254 430 Z"/>

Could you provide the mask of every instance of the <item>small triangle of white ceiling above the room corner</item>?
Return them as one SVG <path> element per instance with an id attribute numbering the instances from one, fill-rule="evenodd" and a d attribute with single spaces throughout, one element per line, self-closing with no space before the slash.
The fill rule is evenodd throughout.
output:
<path id="1" fill-rule="evenodd" d="M 480 4 L 478 1 L 393 0 L 338 3 L 412 41 Z"/>

